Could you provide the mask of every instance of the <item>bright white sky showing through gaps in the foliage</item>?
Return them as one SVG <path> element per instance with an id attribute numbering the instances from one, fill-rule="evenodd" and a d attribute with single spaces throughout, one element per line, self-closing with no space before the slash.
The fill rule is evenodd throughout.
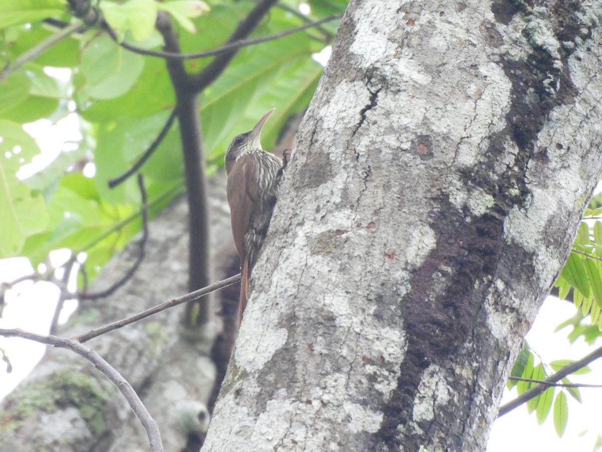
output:
<path id="1" fill-rule="evenodd" d="M 330 48 L 323 54 L 316 55 L 315 59 L 324 63 L 330 54 Z M 52 74 L 55 77 L 58 74 Z M 70 115 L 57 125 L 49 121 L 39 121 L 36 125 L 28 127 L 28 132 L 36 137 L 42 155 L 34 159 L 34 164 L 24 168 L 19 176 L 25 177 L 39 168 L 48 165 L 61 149 L 71 149 L 73 141 L 79 139 L 77 118 Z M 93 171 L 93 168 L 91 169 Z M 64 253 L 55 253 L 52 264 L 58 265 L 65 259 Z M 24 258 L 0 260 L 0 283 L 13 281 L 22 275 L 31 274 L 33 269 L 28 260 Z M 22 292 L 14 296 L 9 292 L 4 315 L 0 318 L 1 328 L 22 328 L 40 334 L 47 334 L 50 319 L 58 299 L 58 289 L 52 284 L 39 282 L 21 283 L 16 287 Z M 75 309 L 75 302 L 67 303 L 61 319 L 66 321 L 70 312 Z M 553 333 L 556 325 L 569 316 L 573 316 L 576 309 L 566 301 L 559 301 L 549 297 L 539 313 L 532 330 L 527 335 L 527 341 L 539 356 L 546 362 L 556 359 L 580 359 L 593 350 L 583 341 L 570 345 L 566 340 L 568 329 L 560 333 Z M 100 326 L 100 325 L 99 325 Z M 84 333 L 85 331 L 81 331 Z M 596 345 L 600 346 L 602 341 Z M 41 344 L 25 341 L 23 339 L 0 338 L 0 347 L 4 348 L 13 364 L 12 374 L 0 370 L 0 398 L 8 394 L 22 378 L 33 368 L 42 357 L 45 347 Z M 65 350 L 64 353 L 70 353 Z M 0 362 L 0 369 L 4 363 Z M 588 375 L 574 377 L 577 383 L 602 383 L 602 362 L 594 362 L 590 366 L 593 372 Z M 495 422 L 488 443 L 488 452 L 507 452 L 509 450 L 522 452 L 529 450 L 545 450 L 546 452 L 566 452 L 594 450 L 600 426 L 600 407 L 602 406 L 602 388 L 581 389 L 583 404 L 580 405 L 573 398 L 568 398 L 569 420 L 565 435 L 559 439 L 554 431 L 551 414 L 543 425 L 538 426 L 535 415 L 528 415 L 526 407 L 519 407 L 513 412 L 503 416 Z M 516 392 L 505 394 L 502 403 L 516 397 Z"/>

